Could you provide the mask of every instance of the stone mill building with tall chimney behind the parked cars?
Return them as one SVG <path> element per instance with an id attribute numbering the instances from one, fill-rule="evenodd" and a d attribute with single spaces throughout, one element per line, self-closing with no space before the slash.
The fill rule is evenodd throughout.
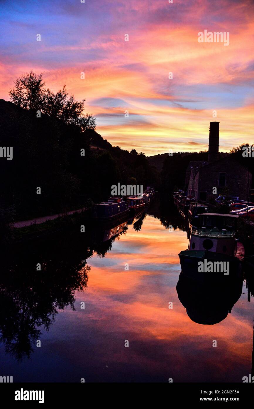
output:
<path id="1" fill-rule="evenodd" d="M 219 122 L 210 122 L 208 162 L 190 162 L 186 170 L 187 196 L 210 201 L 226 191 L 247 200 L 251 186 L 252 174 L 245 166 L 230 155 L 219 160 Z"/>

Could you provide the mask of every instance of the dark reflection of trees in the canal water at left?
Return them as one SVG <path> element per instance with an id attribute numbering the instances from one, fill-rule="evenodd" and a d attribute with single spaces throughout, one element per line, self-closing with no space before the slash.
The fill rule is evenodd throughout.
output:
<path id="1" fill-rule="evenodd" d="M 88 283 L 86 258 L 111 249 L 115 237 L 101 243 L 92 230 L 82 234 L 76 228 L 1 249 L 0 342 L 17 360 L 30 357 L 40 327 L 49 330 L 57 310 L 75 309 L 75 291 Z"/>

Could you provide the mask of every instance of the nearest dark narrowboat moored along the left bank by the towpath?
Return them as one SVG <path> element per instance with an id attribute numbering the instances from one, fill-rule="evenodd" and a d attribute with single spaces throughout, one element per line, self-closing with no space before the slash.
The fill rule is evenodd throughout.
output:
<path id="1" fill-rule="evenodd" d="M 128 201 L 118 197 L 108 198 L 107 202 L 99 203 L 92 208 L 92 218 L 100 221 L 114 220 L 127 216 L 128 213 Z"/>

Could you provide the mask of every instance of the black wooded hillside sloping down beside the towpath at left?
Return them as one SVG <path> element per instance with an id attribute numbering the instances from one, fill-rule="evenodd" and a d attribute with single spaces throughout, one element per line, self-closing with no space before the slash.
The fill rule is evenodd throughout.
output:
<path id="1" fill-rule="evenodd" d="M 92 129 L 0 100 L 2 146 L 13 160 L 1 160 L 0 206 L 15 205 L 16 219 L 28 220 L 91 206 L 111 195 L 113 184 L 156 182 L 144 154 L 113 147 Z M 96 146 L 99 149 L 92 149 Z M 81 150 L 85 155 L 82 156 Z M 41 194 L 36 194 L 37 187 Z"/>

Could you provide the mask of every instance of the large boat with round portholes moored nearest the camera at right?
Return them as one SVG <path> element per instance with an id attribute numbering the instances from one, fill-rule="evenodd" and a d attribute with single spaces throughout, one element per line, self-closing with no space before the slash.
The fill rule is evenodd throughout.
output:
<path id="1" fill-rule="evenodd" d="M 188 249 L 179 253 L 183 274 L 196 279 L 203 274 L 199 268 L 202 265 L 206 276 L 213 274 L 221 278 L 239 272 L 244 247 L 236 239 L 238 218 L 220 213 L 198 215 L 197 227 L 192 226 Z M 224 266 L 228 271 L 217 271 Z"/>

